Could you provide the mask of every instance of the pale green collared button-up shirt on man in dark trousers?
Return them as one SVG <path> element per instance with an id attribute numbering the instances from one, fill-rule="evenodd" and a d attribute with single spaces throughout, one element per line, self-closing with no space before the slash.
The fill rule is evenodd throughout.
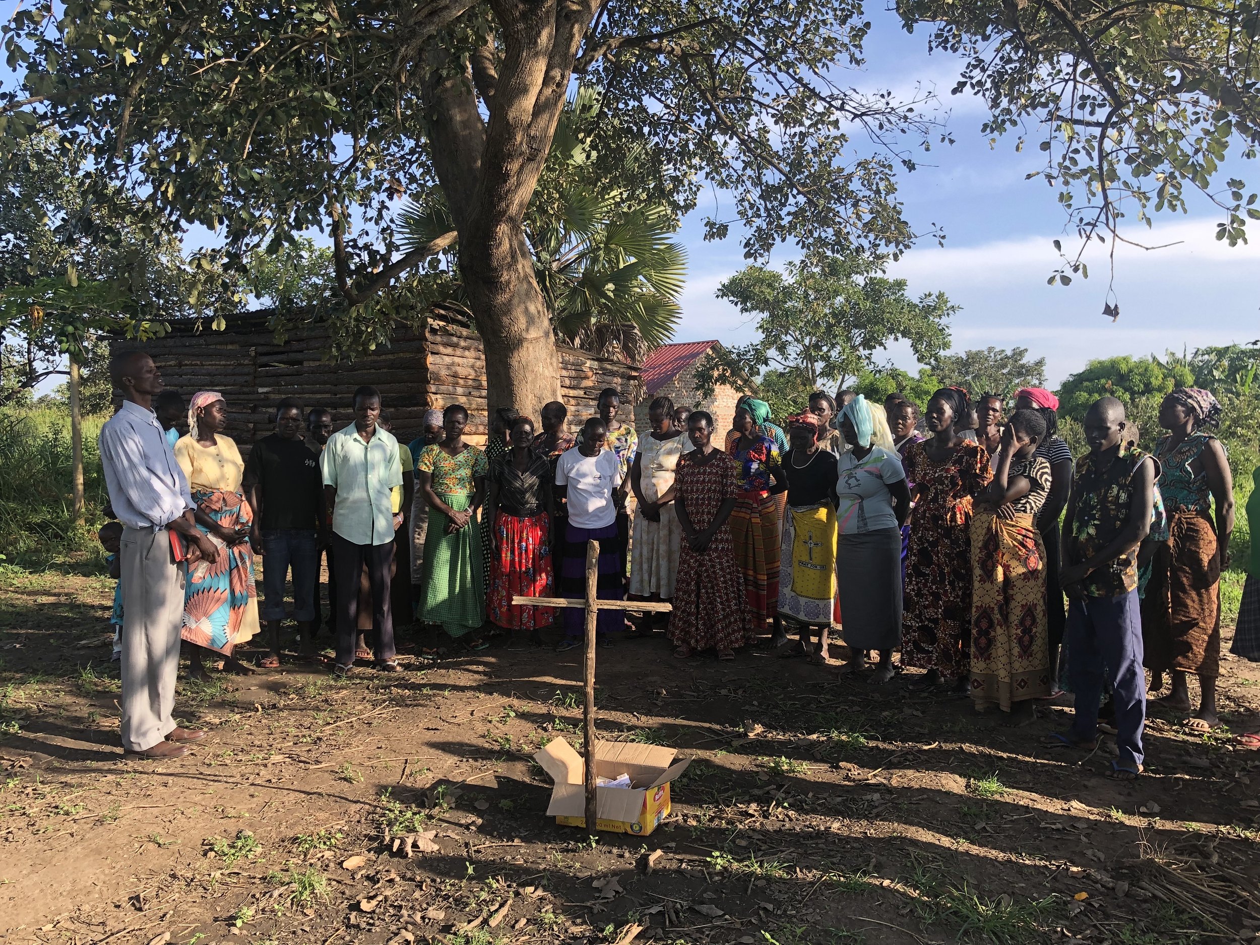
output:
<path id="1" fill-rule="evenodd" d="M 336 489 L 333 530 L 352 544 L 388 544 L 394 538 L 389 490 L 402 485 L 398 441 L 377 427 L 364 442 L 350 423 L 328 438 L 319 457 L 324 485 Z"/>

